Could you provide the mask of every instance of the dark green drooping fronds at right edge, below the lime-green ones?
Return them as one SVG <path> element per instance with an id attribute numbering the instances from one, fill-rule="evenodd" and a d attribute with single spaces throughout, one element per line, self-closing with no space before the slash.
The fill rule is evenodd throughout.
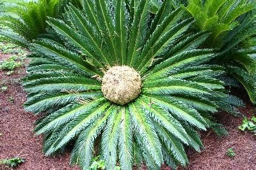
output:
<path id="1" fill-rule="evenodd" d="M 239 22 L 238 27 L 228 32 L 214 61 L 226 67 L 227 75 L 236 78 L 256 104 L 256 10 L 239 18 Z M 223 80 L 228 80 L 228 85 L 236 85 L 230 78 Z"/>

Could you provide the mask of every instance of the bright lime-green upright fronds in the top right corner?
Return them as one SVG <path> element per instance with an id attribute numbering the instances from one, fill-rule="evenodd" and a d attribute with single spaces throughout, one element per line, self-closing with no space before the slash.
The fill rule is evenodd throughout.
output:
<path id="1" fill-rule="evenodd" d="M 240 23 L 237 18 L 256 8 L 253 0 L 189 0 L 186 9 L 201 31 L 211 31 L 210 46 L 220 47 L 225 34 Z"/>

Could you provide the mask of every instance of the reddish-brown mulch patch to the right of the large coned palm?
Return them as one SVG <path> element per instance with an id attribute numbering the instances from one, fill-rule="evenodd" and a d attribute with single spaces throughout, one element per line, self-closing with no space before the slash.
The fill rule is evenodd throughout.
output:
<path id="1" fill-rule="evenodd" d="M 252 117 L 255 108 L 247 104 L 241 111 Z M 225 125 L 228 136 L 216 136 L 212 131 L 202 133 L 205 149 L 201 153 L 189 150 L 188 169 L 256 169 L 256 137 L 237 129 L 243 118 L 234 118 L 224 112 L 218 113 L 217 117 Z M 234 158 L 226 155 L 228 148 L 234 149 Z"/>

